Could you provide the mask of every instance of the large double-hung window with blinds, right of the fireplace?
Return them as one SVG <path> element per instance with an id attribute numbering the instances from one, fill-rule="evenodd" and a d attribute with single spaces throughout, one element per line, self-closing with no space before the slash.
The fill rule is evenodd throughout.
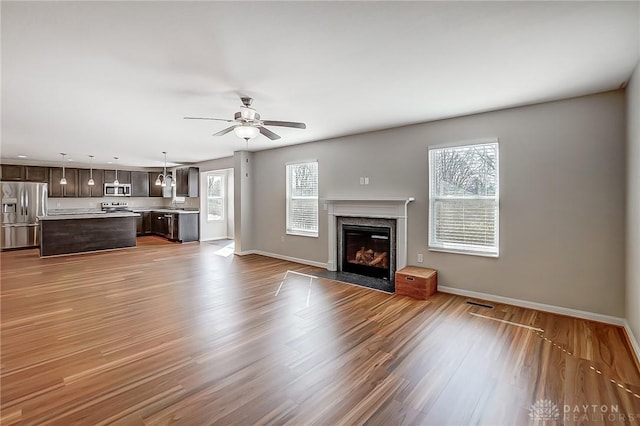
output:
<path id="1" fill-rule="evenodd" d="M 429 148 L 429 249 L 498 256 L 498 143 Z"/>

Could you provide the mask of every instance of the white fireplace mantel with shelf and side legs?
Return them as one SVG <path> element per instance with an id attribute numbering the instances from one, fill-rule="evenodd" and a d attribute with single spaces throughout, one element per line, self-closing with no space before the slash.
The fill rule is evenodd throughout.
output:
<path id="1" fill-rule="evenodd" d="M 381 197 L 364 198 L 324 198 L 322 201 L 329 215 L 329 260 L 327 269 L 336 271 L 338 267 L 337 252 L 337 217 L 371 217 L 396 220 L 396 270 L 407 266 L 407 206 L 413 197 Z"/>

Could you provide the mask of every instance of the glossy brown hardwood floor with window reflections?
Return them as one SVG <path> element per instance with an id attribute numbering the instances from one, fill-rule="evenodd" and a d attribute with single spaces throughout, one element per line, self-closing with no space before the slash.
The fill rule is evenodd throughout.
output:
<path id="1" fill-rule="evenodd" d="M 153 237 L 0 260 L 2 425 L 640 424 L 618 327 Z"/>

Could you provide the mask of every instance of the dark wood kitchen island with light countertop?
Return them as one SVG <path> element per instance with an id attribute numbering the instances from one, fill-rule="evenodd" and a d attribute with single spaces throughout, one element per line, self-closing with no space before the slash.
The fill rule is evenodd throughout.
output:
<path id="1" fill-rule="evenodd" d="M 38 216 L 40 256 L 136 246 L 138 213 L 80 213 Z"/>

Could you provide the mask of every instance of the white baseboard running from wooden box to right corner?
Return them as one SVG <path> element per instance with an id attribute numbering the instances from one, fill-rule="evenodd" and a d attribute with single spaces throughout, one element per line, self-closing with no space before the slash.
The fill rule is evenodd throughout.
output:
<path id="1" fill-rule="evenodd" d="M 597 314 L 594 312 L 581 311 L 578 309 L 565 308 L 562 306 L 547 305 L 547 304 L 538 303 L 538 302 L 529 302 L 527 300 L 512 299 L 511 297 L 495 296 L 493 294 L 480 293 L 480 292 L 470 291 L 470 290 L 462 290 L 459 288 L 446 287 L 441 285 L 438 286 L 438 291 L 441 291 L 443 293 L 457 294 L 458 296 L 489 300 L 491 302 L 506 303 L 507 305 L 521 306 L 523 308 L 537 309 L 538 311 L 545 311 L 545 312 L 551 312 L 554 314 L 567 315 L 570 317 L 582 318 L 582 319 L 587 319 L 591 321 L 604 322 L 607 324 L 613 324 L 620 327 L 624 327 L 627 322 L 624 318 L 614 317 L 611 315 Z"/>

